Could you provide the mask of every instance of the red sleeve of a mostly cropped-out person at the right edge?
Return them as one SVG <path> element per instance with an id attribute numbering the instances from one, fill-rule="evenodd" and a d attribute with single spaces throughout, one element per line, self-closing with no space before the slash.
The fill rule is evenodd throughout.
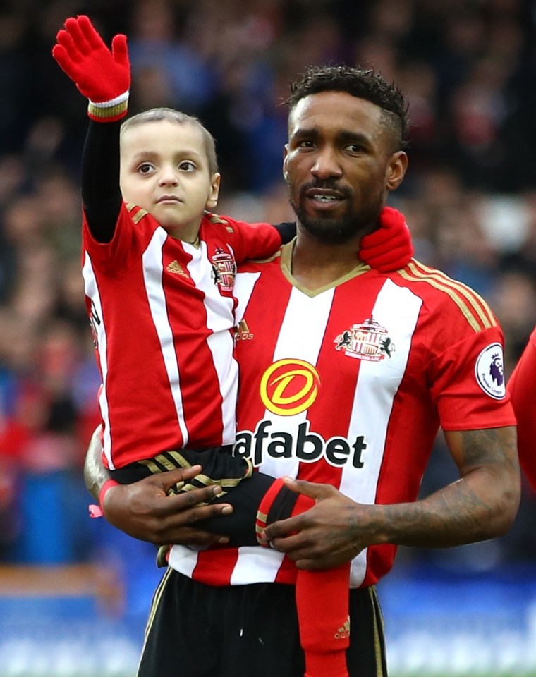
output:
<path id="1" fill-rule="evenodd" d="M 518 421 L 519 461 L 536 490 L 536 329 L 508 381 Z"/>

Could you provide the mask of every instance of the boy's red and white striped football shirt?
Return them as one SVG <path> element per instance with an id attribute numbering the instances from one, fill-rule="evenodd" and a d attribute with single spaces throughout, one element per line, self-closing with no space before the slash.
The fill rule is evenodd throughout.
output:
<path id="1" fill-rule="evenodd" d="M 170 449 L 232 444 L 238 367 L 236 263 L 271 255 L 269 224 L 207 214 L 196 247 L 123 205 L 114 238 L 83 223 L 87 312 L 102 375 L 104 463 L 113 469 Z"/>

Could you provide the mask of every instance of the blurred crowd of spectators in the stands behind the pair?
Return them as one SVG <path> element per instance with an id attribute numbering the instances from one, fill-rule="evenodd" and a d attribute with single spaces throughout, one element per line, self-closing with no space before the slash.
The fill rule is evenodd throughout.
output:
<path id="1" fill-rule="evenodd" d="M 411 143 L 391 205 L 406 214 L 419 260 L 492 305 L 511 372 L 536 324 L 535 1 L 4 0 L 0 561 L 82 561 L 97 547 L 82 477 L 99 420 L 80 274 L 86 103 L 51 58 L 63 20 L 78 13 L 107 41 L 128 35 L 130 113 L 173 106 L 212 131 L 219 210 L 239 219 L 293 219 L 284 102 L 305 66 L 359 63 L 394 80 Z M 453 470 L 438 439 L 423 492 Z M 512 532 L 459 557 L 475 568 L 534 559 L 535 516 L 525 486 Z"/>

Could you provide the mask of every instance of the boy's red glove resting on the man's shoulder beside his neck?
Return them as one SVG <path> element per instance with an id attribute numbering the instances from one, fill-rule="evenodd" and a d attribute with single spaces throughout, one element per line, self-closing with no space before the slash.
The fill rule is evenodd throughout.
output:
<path id="1" fill-rule="evenodd" d="M 404 215 L 393 207 L 384 207 L 377 231 L 361 239 L 359 257 L 371 268 L 389 273 L 407 266 L 414 253 Z"/>

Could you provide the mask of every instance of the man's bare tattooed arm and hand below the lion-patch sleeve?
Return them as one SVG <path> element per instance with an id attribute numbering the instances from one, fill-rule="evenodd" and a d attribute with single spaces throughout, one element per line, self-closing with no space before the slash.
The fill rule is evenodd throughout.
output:
<path id="1" fill-rule="evenodd" d="M 446 432 L 460 479 L 414 503 L 363 505 L 334 487 L 303 480 L 288 487 L 315 507 L 267 527 L 265 538 L 299 568 L 329 568 L 370 545 L 443 548 L 504 534 L 516 517 L 520 473 L 513 426 Z"/>

